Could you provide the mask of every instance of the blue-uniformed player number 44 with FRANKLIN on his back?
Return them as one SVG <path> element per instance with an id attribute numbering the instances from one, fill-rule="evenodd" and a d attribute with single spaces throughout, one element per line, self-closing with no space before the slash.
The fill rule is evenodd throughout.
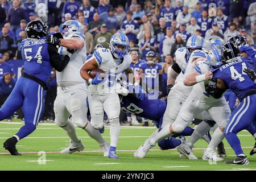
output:
<path id="1" fill-rule="evenodd" d="M 225 64 L 213 72 L 213 78 L 217 79 L 217 85 L 209 86 L 207 90 L 214 98 L 220 98 L 222 93 L 230 88 L 240 100 L 224 131 L 225 138 L 236 152 L 237 158 L 226 162 L 226 164 L 248 165 L 249 161 L 243 154 L 237 133 L 250 126 L 256 118 L 256 84 L 243 72 L 245 68 L 253 69 L 250 64 L 252 61 L 250 57 L 240 57 L 240 50 L 233 43 L 226 43 L 222 52 Z"/>

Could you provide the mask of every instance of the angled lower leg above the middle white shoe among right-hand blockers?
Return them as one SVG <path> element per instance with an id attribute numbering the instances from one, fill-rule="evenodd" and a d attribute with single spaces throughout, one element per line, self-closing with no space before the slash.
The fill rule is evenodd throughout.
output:
<path id="1" fill-rule="evenodd" d="M 197 140 L 201 139 L 210 130 L 210 128 L 211 126 L 209 126 L 208 123 L 204 121 L 201 122 L 196 127 L 191 137 L 189 137 L 188 142 L 186 142 L 188 146 L 193 147 L 193 145 L 197 142 Z"/>

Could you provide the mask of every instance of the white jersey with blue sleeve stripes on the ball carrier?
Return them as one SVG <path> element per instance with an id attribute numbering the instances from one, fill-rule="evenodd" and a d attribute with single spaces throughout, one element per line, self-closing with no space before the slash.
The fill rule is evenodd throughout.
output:
<path id="1" fill-rule="evenodd" d="M 92 57 L 90 57 L 90 59 L 87 61 L 90 61 L 92 59 L 95 59 L 97 61 L 98 68 L 102 69 L 103 71 L 105 71 L 105 73 L 113 77 L 117 76 L 119 73 L 122 73 L 125 69 L 129 68 L 131 64 L 130 55 L 125 55 L 123 57 L 123 61 L 121 61 L 120 59 L 114 59 L 112 53 L 110 52 L 110 49 L 106 48 L 98 48 L 93 53 Z M 111 89 L 114 89 L 115 84 L 115 79 L 111 80 L 111 82 L 106 79 L 106 81 L 98 85 L 90 84 L 88 89 L 90 92 L 104 95 L 111 93 Z"/>

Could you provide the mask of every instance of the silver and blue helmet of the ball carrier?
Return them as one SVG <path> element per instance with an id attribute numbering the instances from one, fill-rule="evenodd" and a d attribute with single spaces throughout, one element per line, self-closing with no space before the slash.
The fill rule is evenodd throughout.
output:
<path id="1" fill-rule="evenodd" d="M 110 38 L 109 49 L 116 58 L 122 59 L 128 53 L 129 39 L 123 32 L 117 32 Z"/>

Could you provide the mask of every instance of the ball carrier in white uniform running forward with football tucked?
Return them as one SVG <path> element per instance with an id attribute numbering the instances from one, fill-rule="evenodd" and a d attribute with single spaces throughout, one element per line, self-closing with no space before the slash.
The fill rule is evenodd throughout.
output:
<path id="1" fill-rule="evenodd" d="M 110 39 L 110 48 L 98 48 L 93 56 L 87 60 L 80 69 L 80 75 L 84 80 L 90 83 L 88 87 L 88 100 L 92 117 L 91 122 L 94 128 L 104 131 L 104 111 L 108 115 L 110 122 L 110 150 L 109 158 L 117 159 L 118 155 L 115 150 L 117 147 L 118 137 L 120 134 L 120 102 L 118 94 L 112 92 L 115 89 L 115 77 L 125 71 L 133 73 L 130 68 L 131 56 L 128 53 L 129 40 L 122 32 L 117 32 Z M 100 68 L 107 77 L 102 79 L 100 73 L 92 78 L 89 71 Z M 137 84 L 137 86 L 139 86 Z"/>

